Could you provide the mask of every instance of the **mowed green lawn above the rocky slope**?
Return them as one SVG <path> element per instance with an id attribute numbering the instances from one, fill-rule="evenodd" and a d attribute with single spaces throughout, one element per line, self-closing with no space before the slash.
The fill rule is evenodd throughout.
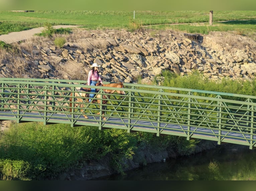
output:
<path id="1" fill-rule="evenodd" d="M 249 20 L 249 21 L 248 21 Z M 151 29 L 172 29 L 187 33 L 237 31 L 255 35 L 256 11 L 0 11 L 0 35 L 52 25 L 82 25 L 86 29 L 128 29 L 131 22 Z M 228 21 L 228 22 L 222 22 Z M 186 24 L 184 24 L 186 23 Z"/>

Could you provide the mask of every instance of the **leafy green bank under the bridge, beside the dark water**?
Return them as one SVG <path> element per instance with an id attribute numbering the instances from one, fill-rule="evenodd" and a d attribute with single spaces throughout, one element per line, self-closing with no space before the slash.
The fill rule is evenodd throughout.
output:
<path id="1" fill-rule="evenodd" d="M 123 172 L 127 161 L 146 164 L 140 150 L 151 148 L 161 154 L 173 147 L 177 153 L 192 154 L 196 141 L 153 133 L 127 133 L 123 130 L 99 130 L 97 127 L 75 127 L 41 123 L 13 124 L 1 134 L 0 180 L 54 180 L 69 169 L 81 170 L 91 160 L 109 161 L 117 172 Z"/>

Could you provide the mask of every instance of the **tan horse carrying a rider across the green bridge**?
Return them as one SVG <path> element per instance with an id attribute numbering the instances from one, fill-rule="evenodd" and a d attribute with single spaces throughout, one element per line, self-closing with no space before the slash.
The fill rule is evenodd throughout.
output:
<path id="1" fill-rule="evenodd" d="M 97 83 L 96 86 L 103 86 L 103 87 L 112 87 L 112 88 L 124 88 L 124 85 L 123 83 L 110 83 L 110 84 L 104 84 L 102 85 L 101 83 Z M 82 89 L 83 90 L 83 89 Z M 85 91 L 83 92 L 75 92 L 75 96 L 77 98 L 77 101 L 80 102 L 80 103 L 76 103 L 75 106 L 78 106 L 80 105 L 80 108 L 83 108 L 83 99 L 86 100 L 86 102 L 89 102 L 89 94 L 91 93 L 90 92 L 90 88 L 87 88 L 87 89 L 84 89 Z M 114 94 L 115 92 L 119 95 L 125 95 L 125 92 L 123 90 L 108 90 L 108 89 L 103 89 L 103 92 L 107 95 L 103 95 L 102 98 L 103 98 L 103 101 L 102 101 L 102 109 L 104 110 L 106 108 L 106 104 L 108 102 L 107 99 L 109 99 L 110 95 L 109 94 Z M 92 102 L 95 103 L 97 102 L 98 104 L 100 104 L 100 97 L 101 95 L 100 94 L 97 94 L 97 91 L 95 93 L 96 95 L 94 96 L 94 99 L 92 99 Z M 72 101 L 72 93 L 70 94 L 70 101 Z M 78 97 L 79 96 L 79 97 Z M 80 97 L 84 97 L 84 98 L 80 98 Z M 72 111 L 72 103 L 70 102 L 69 103 L 69 106 L 70 106 L 70 112 Z M 84 111 L 83 111 L 84 112 Z M 104 115 L 104 111 L 102 112 L 102 115 Z M 96 113 L 96 114 L 100 114 L 100 112 Z M 84 114 L 84 117 L 86 119 L 88 119 L 88 117 Z M 103 116 L 103 120 L 106 120 L 106 117 Z"/>

